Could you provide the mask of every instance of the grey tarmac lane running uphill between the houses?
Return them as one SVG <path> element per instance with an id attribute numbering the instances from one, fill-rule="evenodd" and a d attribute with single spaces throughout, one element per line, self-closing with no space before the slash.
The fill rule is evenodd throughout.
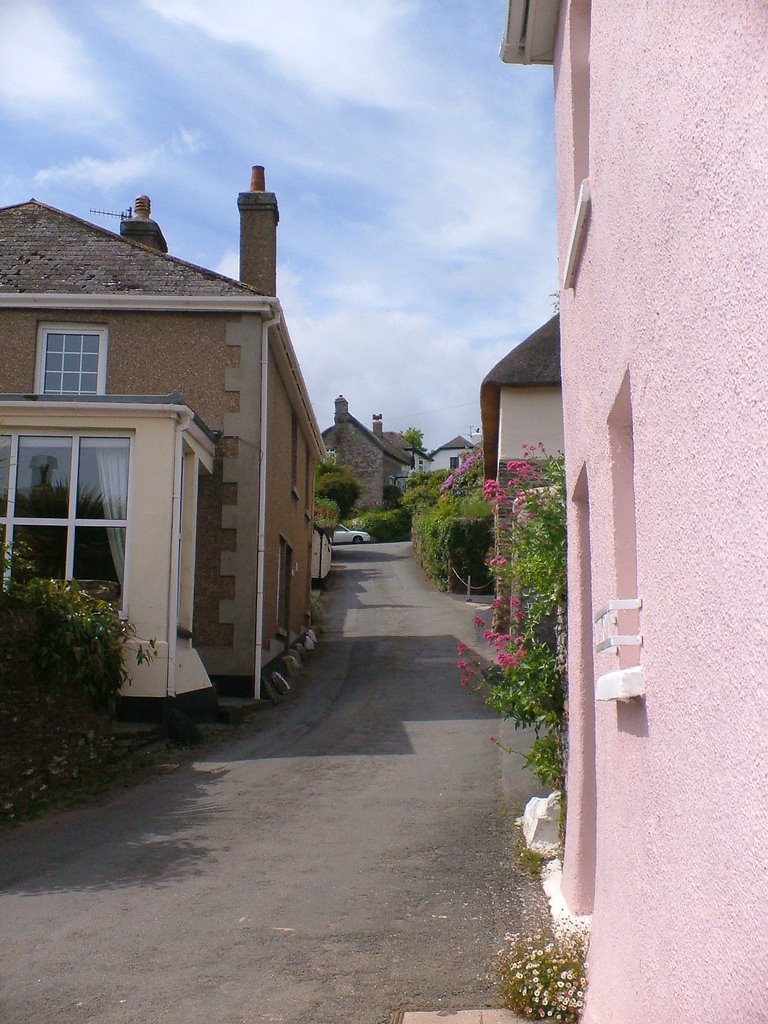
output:
<path id="1" fill-rule="evenodd" d="M 384 1024 L 497 1002 L 534 783 L 459 683 L 476 606 L 335 552 L 328 629 L 247 735 L 0 841 L 2 1024 Z"/>

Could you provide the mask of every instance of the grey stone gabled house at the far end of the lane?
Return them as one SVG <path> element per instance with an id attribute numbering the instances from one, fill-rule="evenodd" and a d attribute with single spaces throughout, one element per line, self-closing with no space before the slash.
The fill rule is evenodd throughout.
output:
<path id="1" fill-rule="evenodd" d="M 402 486 L 411 473 L 412 453 L 400 437 L 390 440 L 384 433 L 382 419 L 375 416 L 369 430 L 349 412 L 349 402 L 339 395 L 335 402 L 334 425 L 323 431 L 323 440 L 337 462 L 343 463 L 361 481 L 360 505 L 375 508 L 384 500 L 387 484 Z"/>

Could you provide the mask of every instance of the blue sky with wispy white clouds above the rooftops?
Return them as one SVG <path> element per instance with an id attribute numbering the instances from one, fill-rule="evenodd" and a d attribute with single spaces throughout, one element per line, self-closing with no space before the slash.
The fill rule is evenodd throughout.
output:
<path id="1" fill-rule="evenodd" d="M 321 428 L 343 393 L 437 446 L 552 315 L 551 69 L 504 0 L 0 0 L 0 205 L 152 198 L 237 276 L 237 195 L 276 193 L 279 294 Z"/>

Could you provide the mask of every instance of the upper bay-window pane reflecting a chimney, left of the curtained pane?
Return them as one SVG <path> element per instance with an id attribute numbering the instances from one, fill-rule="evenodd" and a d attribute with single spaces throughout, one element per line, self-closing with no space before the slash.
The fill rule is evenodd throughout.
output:
<path id="1" fill-rule="evenodd" d="M 71 462 L 71 437 L 19 437 L 15 514 L 66 519 Z"/>

